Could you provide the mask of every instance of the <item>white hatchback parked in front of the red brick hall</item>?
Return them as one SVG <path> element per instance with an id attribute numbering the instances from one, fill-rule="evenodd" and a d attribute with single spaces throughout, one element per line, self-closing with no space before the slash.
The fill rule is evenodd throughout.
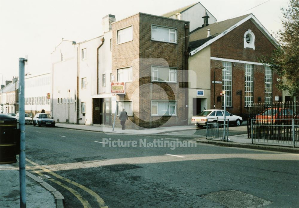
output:
<path id="1" fill-rule="evenodd" d="M 204 110 L 201 113 L 193 116 L 191 119 L 191 123 L 195 124 L 197 127 L 203 127 L 207 125 L 207 122 L 218 122 L 223 123 L 224 121 L 224 110 Z M 226 111 L 225 119 L 229 121 L 229 124 L 234 124 L 235 126 L 240 126 L 243 122 L 242 117 L 233 115 Z"/>

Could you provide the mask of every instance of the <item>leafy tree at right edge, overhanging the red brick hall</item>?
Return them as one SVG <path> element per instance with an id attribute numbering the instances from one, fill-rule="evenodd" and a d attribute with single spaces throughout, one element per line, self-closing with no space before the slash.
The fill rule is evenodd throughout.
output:
<path id="1" fill-rule="evenodd" d="M 288 8 L 281 8 L 283 29 L 277 32 L 281 47 L 272 56 L 263 56 L 260 61 L 269 64 L 283 79 L 278 89 L 299 96 L 299 0 L 290 0 Z"/>

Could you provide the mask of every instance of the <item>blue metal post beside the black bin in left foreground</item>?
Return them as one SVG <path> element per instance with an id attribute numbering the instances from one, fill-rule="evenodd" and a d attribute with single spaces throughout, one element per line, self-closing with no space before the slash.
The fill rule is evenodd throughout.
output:
<path id="1" fill-rule="evenodd" d="M 20 208 L 26 208 L 26 169 L 25 169 L 25 58 L 19 58 L 19 129 L 20 136 L 20 157 L 19 157 L 19 173 L 20 173 Z"/>

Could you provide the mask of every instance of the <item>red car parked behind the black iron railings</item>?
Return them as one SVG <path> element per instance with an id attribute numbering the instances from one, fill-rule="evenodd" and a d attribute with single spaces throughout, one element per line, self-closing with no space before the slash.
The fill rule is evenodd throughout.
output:
<path id="1" fill-rule="evenodd" d="M 292 123 L 292 119 L 298 119 L 299 116 L 290 108 L 267 108 L 256 116 L 259 123 Z"/>

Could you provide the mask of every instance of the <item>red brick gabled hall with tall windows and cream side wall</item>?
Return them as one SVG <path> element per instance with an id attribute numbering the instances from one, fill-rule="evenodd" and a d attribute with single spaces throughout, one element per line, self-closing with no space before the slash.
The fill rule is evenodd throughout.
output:
<path id="1" fill-rule="evenodd" d="M 280 101 L 282 93 L 276 88 L 279 77 L 259 61 L 261 56 L 271 56 L 278 47 L 253 14 L 203 25 L 192 31 L 189 117 L 204 108 L 223 108 L 222 90 L 226 91 L 227 110 L 242 116 L 251 103 Z"/>

